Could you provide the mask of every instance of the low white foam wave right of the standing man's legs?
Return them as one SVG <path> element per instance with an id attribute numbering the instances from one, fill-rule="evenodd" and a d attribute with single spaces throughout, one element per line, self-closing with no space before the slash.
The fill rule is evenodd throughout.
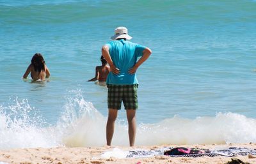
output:
<path id="1" fill-rule="evenodd" d="M 173 117 L 158 124 L 141 124 L 138 143 L 228 144 L 256 142 L 256 120 L 241 114 L 218 113 L 216 117 Z M 147 135 L 145 135 L 147 134 Z"/>

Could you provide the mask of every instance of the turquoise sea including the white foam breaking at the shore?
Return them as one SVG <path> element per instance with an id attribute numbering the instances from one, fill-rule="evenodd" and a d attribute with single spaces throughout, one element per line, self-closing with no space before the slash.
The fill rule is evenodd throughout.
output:
<path id="1" fill-rule="evenodd" d="M 0 0 L 0 149 L 106 144 L 108 89 L 87 80 L 118 26 L 153 52 L 136 145 L 256 142 L 256 1 Z M 45 82 L 22 79 L 36 52 Z"/>

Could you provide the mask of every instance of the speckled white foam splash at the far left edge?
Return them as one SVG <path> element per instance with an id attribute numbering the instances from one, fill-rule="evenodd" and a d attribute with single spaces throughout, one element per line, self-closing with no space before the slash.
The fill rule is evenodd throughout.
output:
<path id="1" fill-rule="evenodd" d="M 58 145 L 54 130 L 45 125 L 28 100 L 12 99 L 0 106 L 0 149 Z"/>

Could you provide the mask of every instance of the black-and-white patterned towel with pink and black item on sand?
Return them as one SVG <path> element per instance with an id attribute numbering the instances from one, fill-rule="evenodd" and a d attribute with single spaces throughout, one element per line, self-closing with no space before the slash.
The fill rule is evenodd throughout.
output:
<path id="1" fill-rule="evenodd" d="M 256 155 L 256 149 L 246 147 L 229 147 L 228 149 L 194 149 L 186 147 L 164 147 L 162 149 L 149 151 L 129 151 L 126 158 L 143 158 L 151 156 L 172 156 L 172 157 L 200 157 L 200 156 L 245 156 L 248 154 Z"/>

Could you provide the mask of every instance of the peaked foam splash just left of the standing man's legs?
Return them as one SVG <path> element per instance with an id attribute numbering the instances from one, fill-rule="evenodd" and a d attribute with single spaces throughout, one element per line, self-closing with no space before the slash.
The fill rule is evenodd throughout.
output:
<path id="1" fill-rule="evenodd" d="M 63 143 L 68 146 L 104 145 L 106 118 L 81 94 L 67 100 L 65 112 L 57 124 L 63 129 Z"/>

